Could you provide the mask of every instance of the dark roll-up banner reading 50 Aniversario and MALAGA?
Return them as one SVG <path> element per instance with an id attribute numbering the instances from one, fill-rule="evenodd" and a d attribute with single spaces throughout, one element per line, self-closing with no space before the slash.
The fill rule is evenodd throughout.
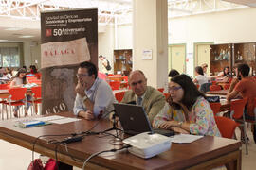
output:
<path id="1" fill-rule="evenodd" d="M 98 10 L 41 13 L 42 114 L 72 111 L 79 63 L 98 65 Z"/>

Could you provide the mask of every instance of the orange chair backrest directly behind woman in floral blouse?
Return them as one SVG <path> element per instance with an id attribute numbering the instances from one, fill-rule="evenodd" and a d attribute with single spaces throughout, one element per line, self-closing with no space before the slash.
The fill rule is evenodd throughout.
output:
<path id="1" fill-rule="evenodd" d="M 227 117 L 214 116 L 217 127 L 220 130 L 221 136 L 224 138 L 232 139 L 235 128 L 238 124 Z"/>

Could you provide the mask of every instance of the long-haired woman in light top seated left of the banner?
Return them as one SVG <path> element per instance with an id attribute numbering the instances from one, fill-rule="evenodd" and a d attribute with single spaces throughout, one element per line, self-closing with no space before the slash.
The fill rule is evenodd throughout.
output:
<path id="1" fill-rule="evenodd" d="M 27 71 L 24 68 L 20 68 L 18 70 L 18 73 L 13 76 L 12 81 L 10 82 L 9 88 L 15 88 L 15 87 L 23 87 L 24 84 L 27 84 Z M 27 101 L 31 100 L 31 96 L 27 95 Z M 27 109 L 25 109 L 25 115 L 27 115 L 27 110 L 30 107 L 30 103 L 27 102 Z M 14 109 L 14 116 L 17 117 L 18 116 L 18 110 L 19 110 L 20 106 L 15 107 Z"/>

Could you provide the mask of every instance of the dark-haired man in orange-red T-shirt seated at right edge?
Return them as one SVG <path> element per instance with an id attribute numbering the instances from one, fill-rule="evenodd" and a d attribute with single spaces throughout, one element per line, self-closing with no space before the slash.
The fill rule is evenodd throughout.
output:
<path id="1" fill-rule="evenodd" d="M 246 120 L 255 120 L 254 117 L 254 99 L 256 98 L 256 80 L 253 77 L 249 77 L 249 66 L 247 64 L 238 64 L 236 69 L 236 78 L 233 78 L 227 99 L 231 100 L 236 98 L 239 93 L 243 98 L 247 97 L 247 107 L 245 110 Z M 245 142 L 244 130 L 241 129 L 241 141 Z M 255 135 L 255 133 L 254 133 Z"/>

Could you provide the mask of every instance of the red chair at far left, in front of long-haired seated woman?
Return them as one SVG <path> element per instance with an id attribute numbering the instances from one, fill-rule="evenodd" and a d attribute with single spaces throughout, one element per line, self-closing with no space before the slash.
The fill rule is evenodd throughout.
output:
<path id="1" fill-rule="evenodd" d="M 25 103 L 22 101 L 26 99 L 27 88 L 11 88 L 9 89 L 9 98 L 8 101 L 4 103 L 4 105 L 9 105 L 9 116 L 11 117 L 11 106 L 25 106 Z M 26 101 L 27 102 L 27 101 Z M 18 110 L 18 117 L 20 116 Z M 8 113 L 7 113 L 8 119 Z"/>

